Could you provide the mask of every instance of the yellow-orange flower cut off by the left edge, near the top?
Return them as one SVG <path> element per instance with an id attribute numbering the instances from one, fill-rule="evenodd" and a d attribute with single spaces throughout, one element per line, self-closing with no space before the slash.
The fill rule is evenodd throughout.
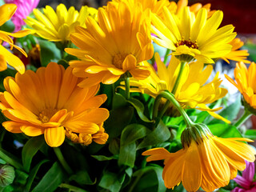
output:
<path id="1" fill-rule="evenodd" d="M 2 26 L 5 22 L 7 22 L 17 10 L 17 6 L 15 4 L 4 4 L 0 6 L 0 26 Z M 28 30 L 20 30 L 14 34 L 8 33 L 6 31 L 0 30 L 0 71 L 7 69 L 6 62 L 13 66 L 15 70 L 18 70 L 19 73 L 23 74 L 25 72 L 25 66 L 23 62 L 14 54 L 11 54 L 5 47 L 3 47 L 2 41 L 8 42 L 10 44 L 10 50 L 15 47 L 17 50 L 22 52 L 26 57 L 26 52 L 22 50 L 20 47 L 14 45 L 14 41 L 9 37 L 12 36 L 14 38 L 22 38 L 30 34 Z"/>

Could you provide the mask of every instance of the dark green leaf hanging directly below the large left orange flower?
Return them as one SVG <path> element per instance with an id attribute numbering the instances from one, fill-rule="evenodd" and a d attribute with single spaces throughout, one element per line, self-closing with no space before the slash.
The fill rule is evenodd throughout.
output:
<path id="1" fill-rule="evenodd" d="M 42 135 L 30 138 L 22 149 L 22 163 L 26 171 L 30 170 L 30 164 L 34 155 L 45 144 L 45 139 Z"/>

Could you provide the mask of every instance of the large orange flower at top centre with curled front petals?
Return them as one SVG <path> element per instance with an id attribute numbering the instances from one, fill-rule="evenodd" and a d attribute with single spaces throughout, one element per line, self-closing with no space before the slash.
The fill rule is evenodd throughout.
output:
<path id="1" fill-rule="evenodd" d="M 74 74 L 85 78 L 79 86 L 112 84 L 126 72 L 137 79 L 148 77 L 150 71 L 140 63 L 154 52 L 149 16 L 142 6 L 109 2 L 105 9 L 99 8 L 98 23 L 88 18 L 86 29 L 76 27 L 70 38 L 79 49 L 65 50 L 82 59 L 70 62 Z"/>

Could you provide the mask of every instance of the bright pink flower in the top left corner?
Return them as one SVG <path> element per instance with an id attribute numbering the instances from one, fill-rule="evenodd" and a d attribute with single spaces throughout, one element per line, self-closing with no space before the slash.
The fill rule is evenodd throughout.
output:
<path id="1" fill-rule="evenodd" d="M 14 16 L 11 21 L 14 22 L 15 30 L 14 32 L 21 30 L 22 26 L 25 25 L 23 18 L 26 18 L 32 10 L 38 6 L 40 0 L 4 0 L 6 3 L 14 3 L 18 6 Z"/>

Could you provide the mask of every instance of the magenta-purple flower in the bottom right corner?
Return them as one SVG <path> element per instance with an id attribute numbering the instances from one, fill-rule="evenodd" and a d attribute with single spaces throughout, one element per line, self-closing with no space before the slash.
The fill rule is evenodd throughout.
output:
<path id="1" fill-rule="evenodd" d="M 255 192 L 256 191 L 256 182 L 254 181 L 254 162 L 246 162 L 246 169 L 242 171 L 242 176 L 237 175 L 234 178 L 234 181 L 238 183 L 240 187 L 235 187 L 232 192 Z"/>

